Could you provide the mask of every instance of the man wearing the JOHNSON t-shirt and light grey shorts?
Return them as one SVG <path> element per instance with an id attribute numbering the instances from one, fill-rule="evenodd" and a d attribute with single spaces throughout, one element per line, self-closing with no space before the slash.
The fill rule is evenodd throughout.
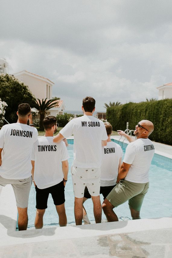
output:
<path id="1" fill-rule="evenodd" d="M 0 130 L 0 185 L 11 184 L 14 190 L 19 230 L 27 229 L 27 206 L 32 184 L 30 154 L 33 143 L 38 139 L 31 113 L 29 104 L 20 104 L 17 123 L 4 125 Z M 28 120 L 30 125 L 27 125 Z"/>

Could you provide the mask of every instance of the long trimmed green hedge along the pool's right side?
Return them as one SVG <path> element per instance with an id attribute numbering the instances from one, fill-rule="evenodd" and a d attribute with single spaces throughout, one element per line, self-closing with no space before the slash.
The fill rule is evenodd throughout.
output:
<path id="1" fill-rule="evenodd" d="M 129 129 L 147 119 L 154 123 L 154 132 L 149 139 L 172 145 L 172 99 L 127 103 L 117 107 L 107 108 L 107 121 L 113 130 L 125 130 L 129 122 Z"/>

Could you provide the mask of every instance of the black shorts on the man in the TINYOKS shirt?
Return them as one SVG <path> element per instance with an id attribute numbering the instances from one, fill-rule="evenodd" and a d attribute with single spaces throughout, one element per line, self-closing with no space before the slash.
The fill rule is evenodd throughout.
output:
<path id="1" fill-rule="evenodd" d="M 51 186 L 45 189 L 39 189 L 36 186 L 35 190 L 37 209 L 43 210 L 47 208 L 49 193 L 51 193 L 55 205 L 61 205 L 65 202 L 65 187 L 63 181 L 55 186 Z"/>

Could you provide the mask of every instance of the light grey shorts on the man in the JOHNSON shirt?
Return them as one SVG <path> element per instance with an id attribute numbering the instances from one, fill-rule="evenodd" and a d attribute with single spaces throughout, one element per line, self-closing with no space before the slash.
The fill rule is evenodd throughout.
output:
<path id="1" fill-rule="evenodd" d="M 6 186 L 7 184 L 11 184 L 14 190 L 17 207 L 27 208 L 32 177 L 25 179 L 6 179 L 0 176 L 0 185 Z"/>

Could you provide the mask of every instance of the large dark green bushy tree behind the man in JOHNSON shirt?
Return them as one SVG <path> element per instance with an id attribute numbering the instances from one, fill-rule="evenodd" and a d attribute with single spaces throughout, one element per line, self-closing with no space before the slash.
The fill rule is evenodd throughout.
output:
<path id="1" fill-rule="evenodd" d="M 28 86 L 21 83 L 13 75 L 0 75 L 0 98 L 5 101 L 8 108 L 5 111 L 5 119 L 9 123 L 17 122 L 18 105 L 28 103 L 30 107 L 34 106 L 35 98 Z"/>

